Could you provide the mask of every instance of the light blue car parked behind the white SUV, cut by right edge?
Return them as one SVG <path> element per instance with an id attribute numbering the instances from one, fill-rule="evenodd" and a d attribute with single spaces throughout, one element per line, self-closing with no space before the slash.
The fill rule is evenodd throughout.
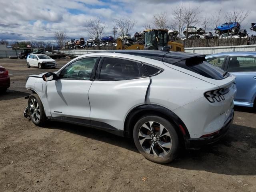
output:
<path id="1" fill-rule="evenodd" d="M 206 61 L 236 76 L 234 105 L 256 107 L 256 52 L 224 52 L 206 56 Z"/>

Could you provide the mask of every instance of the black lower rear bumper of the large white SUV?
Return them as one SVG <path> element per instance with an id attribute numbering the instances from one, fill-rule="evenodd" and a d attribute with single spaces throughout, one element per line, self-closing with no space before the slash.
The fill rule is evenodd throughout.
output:
<path id="1" fill-rule="evenodd" d="M 230 116 L 224 122 L 224 125 L 220 129 L 220 132 L 214 136 L 204 137 L 204 138 L 189 138 L 185 139 L 186 149 L 199 149 L 204 145 L 212 144 L 220 140 L 227 132 L 230 125 L 233 123 L 234 120 L 234 109 L 230 113 Z"/>

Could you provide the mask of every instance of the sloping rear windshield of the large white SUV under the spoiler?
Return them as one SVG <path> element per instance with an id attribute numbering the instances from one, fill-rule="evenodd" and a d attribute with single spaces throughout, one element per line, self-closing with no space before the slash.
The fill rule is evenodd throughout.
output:
<path id="1" fill-rule="evenodd" d="M 184 68 L 186 70 L 190 70 L 204 77 L 216 79 L 216 80 L 221 80 L 229 76 L 228 73 L 225 76 L 223 76 L 225 74 L 224 70 L 206 61 L 196 65 L 188 65 L 188 64 L 186 65 L 186 60 L 182 60 L 172 65 Z"/>

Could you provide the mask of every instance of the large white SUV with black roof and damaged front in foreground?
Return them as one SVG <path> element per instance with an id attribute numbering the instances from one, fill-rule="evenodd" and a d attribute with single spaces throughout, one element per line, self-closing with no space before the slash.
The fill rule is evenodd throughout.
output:
<path id="1" fill-rule="evenodd" d="M 145 158 L 168 163 L 232 124 L 235 76 L 204 55 L 115 50 L 79 56 L 56 73 L 31 75 L 32 122 L 62 121 L 134 139 Z"/>

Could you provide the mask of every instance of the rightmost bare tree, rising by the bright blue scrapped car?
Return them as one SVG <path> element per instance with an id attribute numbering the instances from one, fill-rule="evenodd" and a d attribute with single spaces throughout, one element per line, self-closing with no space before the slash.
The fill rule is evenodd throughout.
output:
<path id="1" fill-rule="evenodd" d="M 232 11 L 226 13 L 225 19 L 227 22 L 233 23 L 233 22 L 238 22 L 240 25 L 241 23 L 249 16 L 251 13 L 251 10 L 242 10 L 242 9 L 236 9 L 233 8 Z M 235 25 L 234 28 L 231 30 L 231 37 L 235 35 L 239 30 L 239 26 Z M 232 41 L 232 45 L 234 45 L 234 38 Z"/>

